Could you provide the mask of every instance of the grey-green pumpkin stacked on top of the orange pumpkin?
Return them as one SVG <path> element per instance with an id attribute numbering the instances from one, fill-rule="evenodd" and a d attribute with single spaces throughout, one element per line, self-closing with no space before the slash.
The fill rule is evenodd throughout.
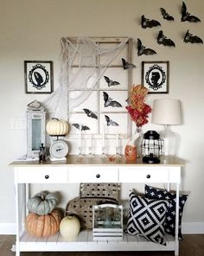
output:
<path id="1" fill-rule="evenodd" d="M 27 208 L 31 213 L 46 215 L 54 210 L 57 202 L 58 198 L 56 195 L 52 193 L 41 192 L 29 198 L 29 201 L 27 202 Z"/>

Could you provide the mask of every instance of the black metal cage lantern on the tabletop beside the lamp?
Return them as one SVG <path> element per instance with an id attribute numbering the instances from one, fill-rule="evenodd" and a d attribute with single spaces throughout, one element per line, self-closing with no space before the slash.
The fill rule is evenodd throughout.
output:
<path id="1" fill-rule="evenodd" d="M 160 163 L 163 140 L 156 131 L 147 131 L 143 134 L 142 155 L 144 163 Z"/>

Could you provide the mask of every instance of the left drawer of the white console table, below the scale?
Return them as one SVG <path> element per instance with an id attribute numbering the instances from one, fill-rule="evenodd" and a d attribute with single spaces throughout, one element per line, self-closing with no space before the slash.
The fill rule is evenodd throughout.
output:
<path id="1" fill-rule="evenodd" d="M 16 171 L 18 183 L 65 183 L 67 181 L 67 167 L 29 167 Z"/>

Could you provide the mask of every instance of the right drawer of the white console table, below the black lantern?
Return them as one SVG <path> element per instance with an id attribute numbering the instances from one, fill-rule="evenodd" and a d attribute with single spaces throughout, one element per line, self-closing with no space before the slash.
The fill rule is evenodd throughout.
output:
<path id="1" fill-rule="evenodd" d="M 119 170 L 119 182 L 169 182 L 169 170 L 124 168 Z"/>

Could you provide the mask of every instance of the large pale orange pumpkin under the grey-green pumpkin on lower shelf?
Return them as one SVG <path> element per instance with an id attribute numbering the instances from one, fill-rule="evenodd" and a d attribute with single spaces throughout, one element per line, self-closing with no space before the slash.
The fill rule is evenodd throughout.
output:
<path id="1" fill-rule="evenodd" d="M 58 210 L 54 210 L 47 215 L 29 213 L 26 217 L 28 233 L 39 238 L 56 234 L 60 230 L 60 223 L 61 212 Z"/>

